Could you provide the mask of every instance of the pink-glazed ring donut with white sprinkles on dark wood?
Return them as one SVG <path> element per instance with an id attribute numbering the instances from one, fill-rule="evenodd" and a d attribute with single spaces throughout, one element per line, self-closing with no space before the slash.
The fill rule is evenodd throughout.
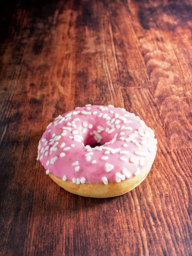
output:
<path id="1" fill-rule="evenodd" d="M 37 160 L 68 192 L 108 198 L 138 186 L 156 151 L 154 131 L 139 116 L 113 105 L 85 105 L 47 126 Z"/>

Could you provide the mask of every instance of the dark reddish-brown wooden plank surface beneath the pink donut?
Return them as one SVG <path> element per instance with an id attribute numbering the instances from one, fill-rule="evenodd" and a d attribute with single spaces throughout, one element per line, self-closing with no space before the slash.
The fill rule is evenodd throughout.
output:
<path id="1" fill-rule="evenodd" d="M 192 255 L 192 1 L 15 0 L 0 15 L 0 255 Z M 36 161 L 58 114 L 126 108 L 157 157 L 126 195 L 83 198 Z"/>

